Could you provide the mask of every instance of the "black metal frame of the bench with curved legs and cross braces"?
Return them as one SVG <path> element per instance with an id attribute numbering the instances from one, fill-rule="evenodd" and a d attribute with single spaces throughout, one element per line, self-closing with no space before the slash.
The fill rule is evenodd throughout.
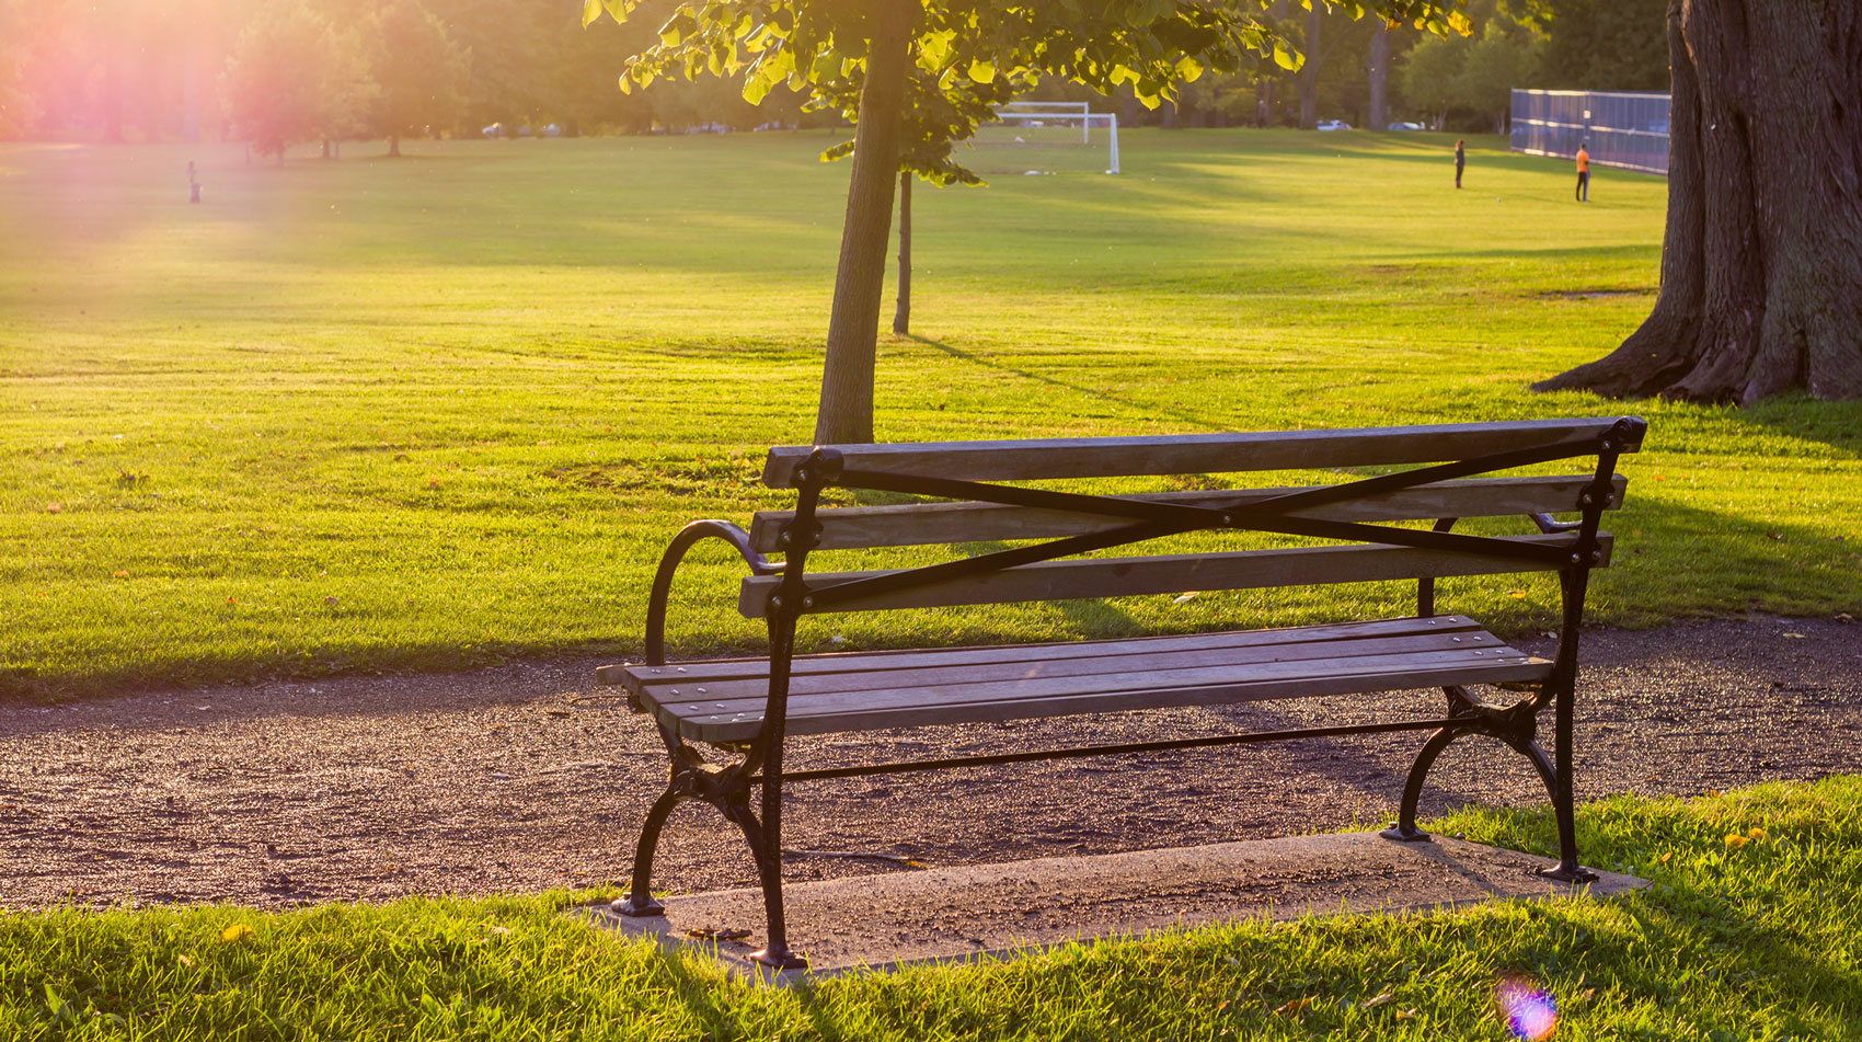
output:
<path id="1" fill-rule="evenodd" d="M 614 910 L 622 915 L 633 917 L 665 915 L 665 906 L 654 900 L 650 889 L 654 850 L 672 811 L 687 800 L 700 800 L 715 807 L 726 820 L 743 829 L 750 856 L 756 861 L 763 891 L 763 906 L 769 919 L 769 934 L 767 947 L 752 953 L 750 960 L 773 969 L 797 969 L 804 967 L 806 960 L 789 951 L 782 906 L 780 837 L 782 785 L 786 781 L 816 781 L 829 777 L 989 766 L 1156 749 L 1194 749 L 1277 742 L 1289 738 L 1376 734 L 1393 731 L 1432 731 L 1432 734 L 1424 740 L 1413 766 L 1410 768 L 1398 818 L 1389 829 L 1385 829 L 1385 837 L 1406 843 L 1430 839 L 1415 828 L 1417 803 L 1430 766 L 1434 766 L 1441 751 L 1447 749 L 1456 738 L 1467 734 L 1486 734 L 1525 755 L 1551 796 L 1558 826 L 1558 863 L 1542 871 L 1542 874 L 1570 884 L 1592 882 L 1598 876 L 1596 872 L 1585 869 L 1577 859 L 1577 835 L 1573 826 L 1572 720 L 1577 686 L 1577 643 L 1590 570 L 1601 563 L 1598 533 L 1603 511 L 1611 501 L 1611 483 L 1616 473 L 1616 459 L 1622 451 L 1635 451 L 1642 442 L 1644 431 L 1646 423 L 1642 419 L 1622 418 L 1594 436 L 1568 438 L 1549 446 L 1480 455 L 1458 462 L 1421 466 L 1339 485 L 1320 485 L 1231 507 L 1158 503 L 1132 498 L 1089 496 L 996 483 L 862 470 L 845 466 L 842 453 L 832 447 L 816 447 L 799 466 L 793 468 L 793 473 L 789 475 L 789 485 L 797 488 L 799 501 L 793 522 L 782 531 L 780 537 L 786 550 L 784 563 L 771 563 L 765 559 L 752 548 L 750 535 L 745 529 L 722 520 L 700 520 L 685 526 L 672 539 L 672 544 L 659 561 L 659 570 L 654 576 L 654 589 L 646 611 L 648 665 L 663 665 L 667 662 L 667 600 L 670 596 L 672 578 L 693 544 L 704 539 L 722 539 L 743 555 L 752 574 L 780 576 L 780 582 L 769 595 L 765 611 L 769 626 L 769 697 L 762 731 L 749 744 L 749 747 L 743 749 L 743 755 L 728 764 L 708 762 L 704 755 L 687 744 L 663 716 L 655 714 L 659 734 L 672 761 L 670 779 L 667 783 L 667 790 L 654 802 L 646 815 L 646 822 L 641 828 L 639 846 L 635 850 L 631 889 L 622 900 L 614 902 Z M 1434 481 L 1449 481 L 1456 477 L 1471 477 L 1592 455 L 1596 457 L 1596 470 L 1590 485 L 1579 498 L 1581 516 L 1577 522 L 1555 522 L 1551 514 L 1544 513 L 1531 514 L 1542 533 L 1575 531 L 1577 539 L 1570 546 L 1521 544 L 1499 537 L 1454 533 L 1450 529 L 1458 518 L 1441 518 L 1432 529 L 1413 529 L 1385 524 L 1290 516 L 1294 511 L 1324 503 L 1413 488 Z M 1104 514 L 1127 518 L 1130 524 L 1106 531 L 1071 535 L 1032 546 L 979 554 L 957 561 L 944 561 L 938 565 L 810 589 L 804 580 L 804 569 L 810 550 L 814 550 L 821 541 L 817 509 L 821 492 L 827 487 Z M 1443 688 L 1447 693 L 1447 714 L 1436 720 L 1257 731 L 1210 738 L 1102 744 L 1028 753 L 784 772 L 782 749 L 789 673 L 795 656 L 797 621 L 803 615 L 834 611 L 836 604 L 847 604 L 879 593 L 892 593 L 951 578 L 976 576 L 991 570 L 1013 569 L 1019 565 L 1050 561 L 1056 557 L 1203 529 L 1244 529 L 1387 546 L 1473 552 L 1495 557 L 1519 557 L 1542 567 L 1557 569 L 1562 598 L 1562 626 L 1558 630 L 1558 645 L 1553 654 L 1553 667 L 1544 682 L 1527 686 L 1536 688 L 1529 697 L 1523 697 L 1510 706 L 1484 705 L 1462 686 Z M 1424 617 L 1434 615 L 1432 578 L 1419 580 L 1417 613 Z M 1551 755 L 1547 755 L 1536 740 L 1538 712 L 1545 705 L 1551 705 L 1555 714 Z M 635 705 L 635 708 L 642 706 Z M 762 815 L 752 809 L 752 788 L 762 790 Z"/>

